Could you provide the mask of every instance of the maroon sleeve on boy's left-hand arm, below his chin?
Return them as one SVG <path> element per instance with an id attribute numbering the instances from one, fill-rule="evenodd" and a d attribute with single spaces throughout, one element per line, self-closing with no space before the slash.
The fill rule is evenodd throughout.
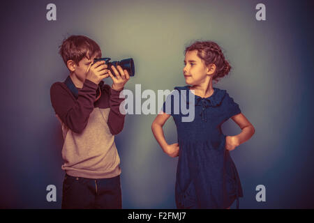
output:
<path id="1" fill-rule="evenodd" d="M 85 80 L 82 89 L 78 91 L 78 98 L 74 96 L 61 82 L 52 84 L 50 88 L 50 100 L 54 112 L 70 130 L 81 133 L 87 125 L 89 114 L 94 109 L 96 89 L 98 85 Z"/>

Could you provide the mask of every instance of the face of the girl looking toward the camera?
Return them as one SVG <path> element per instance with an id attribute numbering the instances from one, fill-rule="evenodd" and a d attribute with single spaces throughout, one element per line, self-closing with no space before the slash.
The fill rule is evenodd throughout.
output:
<path id="1" fill-rule="evenodd" d="M 211 70 L 205 66 L 204 61 L 197 56 L 197 50 L 186 52 L 184 59 L 184 78 L 186 84 L 200 85 L 210 79 Z"/>

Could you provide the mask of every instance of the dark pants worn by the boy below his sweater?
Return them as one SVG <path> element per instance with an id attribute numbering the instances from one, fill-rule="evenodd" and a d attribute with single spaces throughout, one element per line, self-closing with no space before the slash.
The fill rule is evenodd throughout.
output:
<path id="1" fill-rule="evenodd" d="M 66 174 L 63 181 L 61 208 L 121 209 L 120 176 L 91 179 Z"/>

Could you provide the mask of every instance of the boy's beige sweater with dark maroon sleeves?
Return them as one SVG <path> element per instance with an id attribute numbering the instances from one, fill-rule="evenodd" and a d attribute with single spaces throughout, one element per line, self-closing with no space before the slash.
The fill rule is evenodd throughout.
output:
<path id="1" fill-rule="evenodd" d="M 124 115 L 119 105 L 121 91 L 100 83 L 100 98 L 95 102 L 98 85 L 86 80 L 77 98 L 64 82 L 52 84 L 52 107 L 59 116 L 63 132 L 62 169 L 70 176 L 112 178 L 121 174 L 114 134 L 121 132 Z"/>

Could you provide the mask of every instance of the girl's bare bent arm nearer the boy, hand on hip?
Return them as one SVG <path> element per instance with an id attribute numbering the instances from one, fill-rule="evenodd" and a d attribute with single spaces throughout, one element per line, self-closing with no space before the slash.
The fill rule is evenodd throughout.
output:
<path id="1" fill-rule="evenodd" d="M 163 125 L 165 125 L 165 122 L 170 116 L 170 114 L 160 112 L 151 124 L 151 130 L 153 131 L 158 144 L 163 148 L 163 151 L 167 153 L 167 155 L 170 155 L 170 157 L 177 157 L 179 155 L 179 144 L 167 144 L 165 135 L 163 134 Z"/>

